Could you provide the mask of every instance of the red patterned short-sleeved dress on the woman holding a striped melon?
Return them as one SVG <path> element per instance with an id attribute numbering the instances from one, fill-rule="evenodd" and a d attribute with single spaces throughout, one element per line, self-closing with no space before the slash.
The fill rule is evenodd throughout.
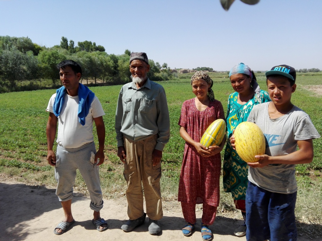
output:
<path id="1" fill-rule="evenodd" d="M 223 105 L 220 101 L 211 101 L 204 111 L 199 111 L 193 98 L 183 103 L 178 124 L 186 129 L 194 141 L 200 142 L 204 131 L 217 119 L 225 119 Z M 186 142 L 178 201 L 194 204 L 206 203 L 218 207 L 220 170 L 220 153 L 202 157 L 192 145 Z"/>

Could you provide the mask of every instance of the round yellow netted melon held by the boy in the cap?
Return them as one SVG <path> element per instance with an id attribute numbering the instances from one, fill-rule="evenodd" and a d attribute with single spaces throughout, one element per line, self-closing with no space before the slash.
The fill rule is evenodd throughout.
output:
<path id="1" fill-rule="evenodd" d="M 245 162 L 258 162 L 256 155 L 265 154 L 265 137 L 262 130 L 252 122 L 240 123 L 234 132 L 237 154 Z"/>

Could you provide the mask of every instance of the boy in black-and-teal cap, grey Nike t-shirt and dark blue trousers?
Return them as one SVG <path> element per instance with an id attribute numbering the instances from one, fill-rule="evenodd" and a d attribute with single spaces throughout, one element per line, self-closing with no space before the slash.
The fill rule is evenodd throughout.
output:
<path id="1" fill-rule="evenodd" d="M 312 162 L 312 139 L 320 135 L 308 114 L 291 103 L 295 69 L 274 66 L 266 77 L 272 101 L 256 105 L 247 120 L 263 131 L 266 152 L 255 156 L 258 162 L 248 163 L 246 239 L 297 240 L 295 164 Z M 235 142 L 234 136 L 231 142 Z"/>

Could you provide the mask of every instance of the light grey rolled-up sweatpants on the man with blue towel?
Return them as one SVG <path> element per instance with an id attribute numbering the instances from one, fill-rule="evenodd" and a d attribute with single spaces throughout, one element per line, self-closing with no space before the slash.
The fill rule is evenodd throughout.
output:
<path id="1" fill-rule="evenodd" d="M 102 191 L 99 181 L 99 166 L 90 162 L 91 153 L 96 153 L 94 142 L 78 148 L 57 146 L 55 178 L 58 182 L 56 195 L 59 201 L 73 197 L 76 169 L 79 169 L 90 192 L 90 209 L 99 212 L 103 207 Z"/>

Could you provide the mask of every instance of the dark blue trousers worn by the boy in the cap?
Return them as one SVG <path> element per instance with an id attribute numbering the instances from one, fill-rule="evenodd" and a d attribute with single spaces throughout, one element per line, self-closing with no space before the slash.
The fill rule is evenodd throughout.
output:
<path id="1" fill-rule="evenodd" d="M 248 182 L 246 191 L 247 241 L 296 241 L 295 202 L 297 192 L 269 192 Z"/>

